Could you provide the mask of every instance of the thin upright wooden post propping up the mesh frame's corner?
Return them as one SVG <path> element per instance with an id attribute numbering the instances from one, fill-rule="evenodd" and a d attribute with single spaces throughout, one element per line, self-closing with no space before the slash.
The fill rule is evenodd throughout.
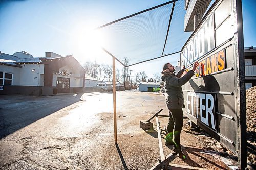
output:
<path id="1" fill-rule="evenodd" d="M 116 58 L 113 59 L 113 106 L 114 106 L 114 135 L 115 143 L 117 143 L 117 128 L 116 128 Z"/>

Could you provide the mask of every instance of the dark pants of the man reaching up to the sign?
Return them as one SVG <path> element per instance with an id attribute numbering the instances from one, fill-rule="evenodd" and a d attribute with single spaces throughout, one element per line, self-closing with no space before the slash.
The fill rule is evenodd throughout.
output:
<path id="1" fill-rule="evenodd" d="M 180 133 L 183 126 L 183 111 L 182 109 L 169 109 L 169 122 L 167 130 L 170 133 L 170 138 L 168 140 L 174 141 L 174 147 L 180 149 Z"/>

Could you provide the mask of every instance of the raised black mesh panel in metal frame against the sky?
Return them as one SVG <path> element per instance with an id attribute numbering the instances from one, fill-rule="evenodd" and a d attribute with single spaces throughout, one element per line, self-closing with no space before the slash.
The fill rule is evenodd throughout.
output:
<path id="1" fill-rule="evenodd" d="M 184 32 L 184 0 L 169 1 L 107 23 L 97 30 L 103 48 L 127 66 L 179 53 L 191 33 Z"/>

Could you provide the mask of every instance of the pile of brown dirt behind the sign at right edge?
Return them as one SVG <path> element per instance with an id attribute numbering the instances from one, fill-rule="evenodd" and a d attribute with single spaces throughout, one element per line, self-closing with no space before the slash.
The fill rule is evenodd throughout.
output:
<path id="1" fill-rule="evenodd" d="M 246 125 L 247 142 L 256 147 L 256 86 L 246 90 Z M 255 150 L 247 147 L 247 163 L 249 166 L 256 166 Z"/>

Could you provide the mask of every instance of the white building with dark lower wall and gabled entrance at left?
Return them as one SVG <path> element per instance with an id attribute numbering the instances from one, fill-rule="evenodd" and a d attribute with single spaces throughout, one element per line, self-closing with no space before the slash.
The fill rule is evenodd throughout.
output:
<path id="1" fill-rule="evenodd" d="M 27 52 L 0 52 L 0 94 L 53 95 L 84 91 L 84 68 L 72 56 L 46 52 L 35 58 Z"/>

